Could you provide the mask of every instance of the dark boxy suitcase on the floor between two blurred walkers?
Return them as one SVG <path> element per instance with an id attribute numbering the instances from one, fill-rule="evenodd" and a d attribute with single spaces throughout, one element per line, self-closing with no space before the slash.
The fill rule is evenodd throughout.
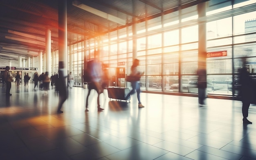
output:
<path id="1" fill-rule="evenodd" d="M 124 100 L 124 101 L 130 101 L 130 96 L 125 99 L 127 94 L 130 92 L 129 88 L 123 88 L 123 87 L 108 87 L 108 98 L 110 99 L 118 99 L 118 100 Z"/>

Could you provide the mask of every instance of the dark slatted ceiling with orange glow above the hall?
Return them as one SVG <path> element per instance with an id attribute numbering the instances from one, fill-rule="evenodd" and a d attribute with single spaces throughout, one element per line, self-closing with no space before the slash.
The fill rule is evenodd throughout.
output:
<path id="1" fill-rule="evenodd" d="M 132 18 L 146 20 L 162 11 L 177 7 L 180 0 L 81 0 L 99 11 L 126 20 L 131 25 Z M 181 0 L 182 4 L 195 0 Z M 205 1 L 199 0 L 198 2 Z M 60 1 L 61 2 L 61 1 Z M 67 43 L 81 42 L 108 31 L 115 31 L 121 24 L 84 11 L 67 0 Z M 194 4 L 193 4 L 194 5 Z M 47 29 L 51 30 L 51 50 L 58 50 L 58 0 L 0 0 L 0 66 L 18 65 L 18 56 L 25 59 L 45 52 L 44 41 Z M 153 18 L 153 17 L 152 17 Z M 15 31 L 29 36 L 11 33 Z M 18 40 L 17 40 L 18 39 Z M 8 48 L 15 48 L 11 50 Z M 36 54 L 36 53 L 37 54 Z"/>

